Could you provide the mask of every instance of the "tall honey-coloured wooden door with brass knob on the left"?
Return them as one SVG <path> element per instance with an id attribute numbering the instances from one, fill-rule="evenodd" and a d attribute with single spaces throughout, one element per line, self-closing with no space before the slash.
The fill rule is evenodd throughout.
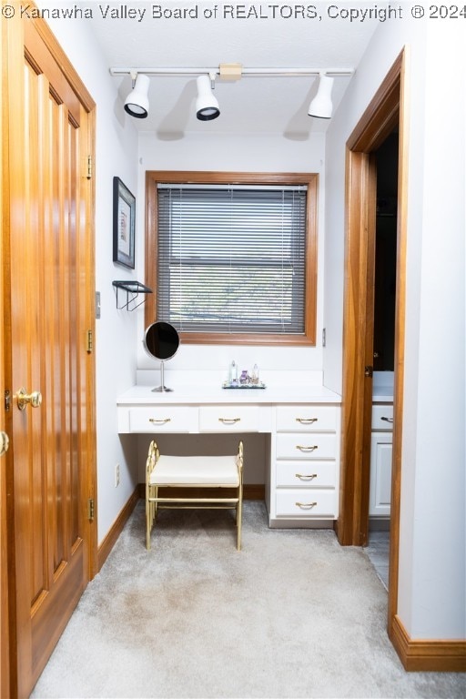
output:
<path id="1" fill-rule="evenodd" d="M 92 116 L 40 26 L 8 27 L 5 316 L 19 696 L 30 693 L 75 608 L 95 546 L 87 512 L 95 497 L 94 357 L 86 345 L 94 329 Z"/>

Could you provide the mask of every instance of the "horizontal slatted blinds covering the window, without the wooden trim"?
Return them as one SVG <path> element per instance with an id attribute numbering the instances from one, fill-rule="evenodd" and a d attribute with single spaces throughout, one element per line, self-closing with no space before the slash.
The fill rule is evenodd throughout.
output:
<path id="1" fill-rule="evenodd" d="M 304 334 L 307 187 L 157 187 L 157 318 Z"/>

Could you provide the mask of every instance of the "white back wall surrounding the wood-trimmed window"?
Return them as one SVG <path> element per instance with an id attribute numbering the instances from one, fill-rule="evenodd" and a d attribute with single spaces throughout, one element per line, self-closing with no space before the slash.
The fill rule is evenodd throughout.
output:
<path id="1" fill-rule="evenodd" d="M 187 134 L 179 140 L 162 140 L 156 134 L 144 133 L 139 137 L 139 198 L 145 197 L 147 170 L 218 170 L 245 172 L 315 172 L 319 173 L 319 211 L 323 210 L 324 137 L 310 135 L 306 141 L 244 134 L 232 137 L 224 134 Z M 180 345 L 176 357 L 167 364 L 167 370 L 225 370 L 231 360 L 239 368 L 259 370 L 322 370 L 322 297 L 323 297 L 323 217 L 319 218 L 318 261 L 318 315 L 317 344 L 314 348 L 270 348 L 236 346 Z M 139 255 L 140 274 L 144 272 L 143 251 Z M 144 327 L 140 316 L 138 336 L 142 340 Z M 154 369 L 158 362 L 151 360 L 142 342 L 137 345 L 137 366 Z"/>

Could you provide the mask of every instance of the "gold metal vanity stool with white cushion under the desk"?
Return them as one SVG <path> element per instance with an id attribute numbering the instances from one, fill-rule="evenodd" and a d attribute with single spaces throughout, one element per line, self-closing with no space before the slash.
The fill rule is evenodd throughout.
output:
<path id="1" fill-rule="evenodd" d="M 159 496 L 158 489 L 163 488 Z M 217 489 L 210 496 L 167 496 L 166 489 Z M 218 490 L 236 491 L 222 497 Z M 233 456 L 166 456 L 160 455 L 157 443 L 150 442 L 146 463 L 146 548 L 150 550 L 150 532 L 157 521 L 158 509 L 194 508 L 236 510 L 237 549 L 241 549 L 241 516 L 243 507 L 243 442 Z"/>

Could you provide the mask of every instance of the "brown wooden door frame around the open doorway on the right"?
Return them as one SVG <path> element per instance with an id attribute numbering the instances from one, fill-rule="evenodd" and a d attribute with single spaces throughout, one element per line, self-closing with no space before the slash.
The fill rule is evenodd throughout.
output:
<path id="1" fill-rule="evenodd" d="M 370 198 L 376 173 L 370 154 L 380 147 L 394 127 L 399 127 L 399 175 L 395 309 L 394 429 L 390 513 L 390 590 L 388 629 L 398 605 L 400 539 L 401 428 L 404 366 L 405 279 L 408 185 L 408 62 L 404 47 L 391 66 L 370 105 L 347 142 L 346 159 L 346 259 L 343 329 L 342 461 L 337 532 L 342 545 L 363 545 L 369 530 L 368 412 L 372 381 L 364 376 L 368 334 L 367 318 L 373 293 L 374 235 Z M 372 281 L 371 279 L 372 275 Z M 369 281 L 368 281 L 369 280 Z M 372 362 L 370 362 L 372 363 Z M 370 386 L 370 390 L 368 389 Z M 366 459 L 366 461 L 364 461 Z M 365 464 L 363 466 L 363 464 Z"/>

